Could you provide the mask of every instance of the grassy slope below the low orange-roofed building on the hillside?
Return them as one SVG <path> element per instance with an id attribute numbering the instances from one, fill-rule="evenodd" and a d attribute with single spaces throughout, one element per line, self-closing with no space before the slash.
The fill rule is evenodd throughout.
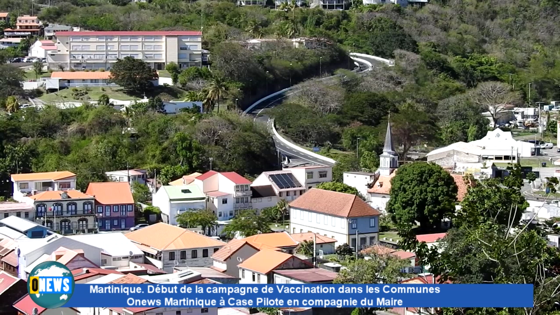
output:
<path id="1" fill-rule="evenodd" d="M 77 89 L 84 89 L 83 87 L 78 87 Z M 87 95 L 89 96 L 89 100 L 97 101 L 99 96 L 106 94 L 109 96 L 110 99 L 116 100 L 134 100 L 134 99 L 142 99 L 143 95 L 130 95 L 127 94 L 122 87 L 88 87 Z M 164 100 L 183 100 L 185 96 L 185 91 L 179 89 L 178 87 L 171 86 L 158 86 L 155 90 L 151 91 L 149 94 L 146 94 L 146 97 L 160 95 L 160 97 Z M 72 96 L 72 88 L 63 89 L 58 92 L 50 93 L 50 94 L 43 94 L 39 97 L 40 100 L 45 102 L 63 102 L 63 101 L 80 101 L 75 100 Z"/>

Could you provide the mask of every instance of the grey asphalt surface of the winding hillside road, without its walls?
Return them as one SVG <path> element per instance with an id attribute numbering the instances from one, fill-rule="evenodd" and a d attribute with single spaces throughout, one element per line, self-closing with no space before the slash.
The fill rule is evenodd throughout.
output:
<path id="1" fill-rule="evenodd" d="M 371 64 L 374 66 L 381 66 L 385 64 L 375 59 L 363 58 L 363 57 L 360 58 L 366 60 L 367 62 L 371 62 Z M 360 71 L 362 72 L 367 71 L 369 68 L 367 64 L 362 64 L 362 63 L 360 64 L 360 67 L 361 67 Z M 306 154 L 304 152 L 295 150 L 290 146 L 284 145 L 284 143 L 282 143 L 282 141 L 280 141 L 278 137 L 276 137 L 274 133 L 272 133 L 272 121 L 270 120 L 270 117 L 266 114 L 265 109 L 272 108 L 278 104 L 281 104 L 285 98 L 287 98 L 288 96 L 296 92 L 297 91 L 290 90 L 278 94 L 273 98 L 265 100 L 262 103 L 256 105 L 253 109 L 250 110 L 250 112 L 248 112 L 248 114 L 255 116 L 254 118 L 255 122 L 260 122 L 267 125 L 267 128 L 272 134 L 272 138 L 274 140 L 274 144 L 276 145 L 276 149 L 278 150 L 278 152 L 282 154 L 282 160 L 285 161 L 286 157 L 288 158 L 289 164 L 287 166 L 293 167 L 293 166 L 309 164 L 309 163 L 325 165 L 325 166 L 334 166 L 334 163 L 330 163 L 328 161 L 318 159 L 315 156 L 312 156 L 311 154 Z"/>

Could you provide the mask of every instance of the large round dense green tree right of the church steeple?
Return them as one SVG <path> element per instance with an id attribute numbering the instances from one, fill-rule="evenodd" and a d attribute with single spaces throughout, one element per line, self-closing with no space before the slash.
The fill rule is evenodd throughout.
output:
<path id="1" fill-rule="evenodd" d="M 429 232 L 455 211 L 457 185 L 441 166 L 416 162 L 396 170 L 390 196 L 386 209 L 396 225 L 418 222 L 422 231 Z"/>

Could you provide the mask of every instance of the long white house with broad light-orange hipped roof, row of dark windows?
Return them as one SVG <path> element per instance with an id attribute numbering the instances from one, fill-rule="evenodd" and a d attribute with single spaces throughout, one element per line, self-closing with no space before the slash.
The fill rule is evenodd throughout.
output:
<path id="1" fill-rule="evenodd" d="M 174 267 L 212 265 L 212 254 L 226 243 L 179 226 L 156 223 L 125 234 L 144 252 L 147 262 L 172 272 Z"/>

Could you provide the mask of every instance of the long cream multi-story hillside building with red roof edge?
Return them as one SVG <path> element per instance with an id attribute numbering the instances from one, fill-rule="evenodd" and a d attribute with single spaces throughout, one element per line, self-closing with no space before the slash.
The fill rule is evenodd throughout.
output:
<path id="1" fill-rule="evenodd" d="M 47 57 L 49 67 L 109 70 L 117 59 L 142 59 L 156 70 L 175 62 L 179 68 L 203 62 L 199 31 L 59 31 L 57 50 Z"/>

